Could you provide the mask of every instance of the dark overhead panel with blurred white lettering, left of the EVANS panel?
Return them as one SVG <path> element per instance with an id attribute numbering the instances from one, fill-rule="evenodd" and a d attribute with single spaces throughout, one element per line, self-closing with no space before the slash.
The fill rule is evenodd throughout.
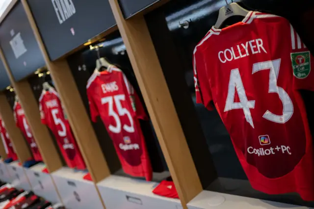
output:
<path id="1" fill-rule="evenodd" d="M 0 45 L 16 81 L 45 66 L 34 33 L 21 2 L 0 25 Z"/>

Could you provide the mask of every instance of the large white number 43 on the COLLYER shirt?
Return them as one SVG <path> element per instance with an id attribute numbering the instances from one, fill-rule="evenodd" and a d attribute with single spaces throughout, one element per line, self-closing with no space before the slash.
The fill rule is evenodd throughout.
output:
<path id="1" fill-rule="evenodd" d="M 263 115 L 263 118 L 275 122 L 275 123 L 286 123 L 291 118 L 293 114 L 293 104 L 288 95 L 288 93 L 282 88 L 277 86 L 277 78 L 280 70 L 280 62 L 281 59 L 275 59 L 271 61 L 259 62 L 253 64 L 252 75 L 262 71 L 262 70 L 270 70 L 269 71 L 269 88 L 268 93 L 277 93 L 279 99 L 283 104 L 283 114 L 276 115 L 269 110 Z M 235 90 L 239 96 L 239 103 L 235 103 Z M 254 128 L 254 123 L 251 115 L 251 108 L 254 109 L 255 100 L 248 101 L 245 89 L 242 83 L 242 79 L 240 76 L 239 69 L 233 69 L 230 74 L 229 87 L 228 87 L 228 96 L 225 105 L 225 112 L 232 109 L 243 109 L 243 113 L 245 115 L 246 121 Z"/>

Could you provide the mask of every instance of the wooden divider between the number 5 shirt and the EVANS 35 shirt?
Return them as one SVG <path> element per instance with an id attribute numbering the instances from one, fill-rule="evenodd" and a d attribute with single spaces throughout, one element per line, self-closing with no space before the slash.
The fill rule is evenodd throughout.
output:
<path id="1" fill-rule="evenodd" d="M 22 0 L 22 3 L 39 47 L 44 55 L 47 68 L 51 72 L 54 85 L 69 118 L 87 169 L 94 183 L 98 183 L 109 176 L 110 171 L 84 104 L 79 96 L 70 67 L 65 59 L 53 62 L 50 60 L 26 0 Z"/>

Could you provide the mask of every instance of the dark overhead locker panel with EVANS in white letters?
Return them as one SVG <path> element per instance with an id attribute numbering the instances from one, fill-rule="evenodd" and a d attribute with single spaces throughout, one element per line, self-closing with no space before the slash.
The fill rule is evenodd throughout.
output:
<path id="1" fill-rule="evenodd" d="M 28 0 L 52 60 L 115 26 L 108 0 Z"/>

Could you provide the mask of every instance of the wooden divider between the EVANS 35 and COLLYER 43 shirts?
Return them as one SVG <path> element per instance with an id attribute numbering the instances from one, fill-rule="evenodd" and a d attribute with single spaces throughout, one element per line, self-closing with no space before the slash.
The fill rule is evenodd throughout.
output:
<path id="1" fill-rule="evenodd" d="M 143 15 L 123 18 L 109 0 L 183 207 L 203 189 Z"/>

